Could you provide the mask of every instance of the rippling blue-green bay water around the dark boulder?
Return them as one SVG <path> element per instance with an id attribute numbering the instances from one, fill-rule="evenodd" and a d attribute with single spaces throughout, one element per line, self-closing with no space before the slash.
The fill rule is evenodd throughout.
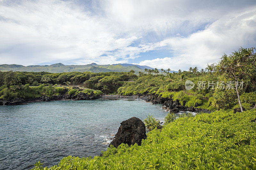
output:
<path id="1" fill-rule="evenodd" d="M 37 161 L 56 165 L 68 155 L 99 156 L 120 122 L 168 113 L 144 100 L 80 100 L 0 106 L 0 169 L 30 169 Z"/>

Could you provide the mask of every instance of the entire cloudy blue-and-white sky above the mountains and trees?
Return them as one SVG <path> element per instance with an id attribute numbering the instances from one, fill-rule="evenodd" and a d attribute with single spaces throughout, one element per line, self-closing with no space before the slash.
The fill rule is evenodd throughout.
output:
<path id="1" fill-rule="evenodd" d="M 255 0 L 0 0 L 0 64 L 205 68 L 256 47 Z"/>

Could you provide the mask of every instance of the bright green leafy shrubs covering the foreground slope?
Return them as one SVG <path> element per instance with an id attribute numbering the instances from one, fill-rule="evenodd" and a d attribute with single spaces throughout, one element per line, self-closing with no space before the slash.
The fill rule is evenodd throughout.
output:
<path id="1" fill-rule="evenodd" d="M 216 111 L 181 117 L 129 147 L 108 148 L 102 157 L 63 158 L 57 169 L 256 169 L 256 110 Z M 35 164 L 36 169 L 42 163 Z"/>

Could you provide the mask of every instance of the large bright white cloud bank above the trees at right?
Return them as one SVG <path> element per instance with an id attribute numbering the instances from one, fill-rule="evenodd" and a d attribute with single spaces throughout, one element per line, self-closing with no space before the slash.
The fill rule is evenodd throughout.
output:
<path id="1" fill-rule="evenodd" d="M 255 47 L 256 10 L 221 18 L 188 37 L 171 37 L 161 42 L 174 50 L 174 57 L 145 60 L 138 64 L 159 65 L 172 70 L 188 70 L 190 66 L 204 69 L 207 63 L 216 63 L 223 53 L 230 54 L 240 46 Z"/>

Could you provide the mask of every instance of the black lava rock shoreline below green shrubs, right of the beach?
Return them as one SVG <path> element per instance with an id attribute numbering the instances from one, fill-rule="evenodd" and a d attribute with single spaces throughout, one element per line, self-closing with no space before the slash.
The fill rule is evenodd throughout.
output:
<path id="1" fill-rule="evenodd" d="M 172 100 L 172 98 L 163 98 L 163 97 L 158 97 L 158 94 L 154 94 L 154 95 L 150 95 L 147 99 L 147 102 L 152 102 L 153 104 L 163 104 L 165 107 L 164 109 L 168 109 L 173 113 L 178 113 L 180 111 L 189 111 L 189 112 L 195 112 L 195 113 L 199 113 L 199 112 L 204 112 L 204 113 L 211 113 L 212 111 L 207 110 L 207 109 L 201 109 L 201 108 L 197 108 L 199 106 L 198 103 L 195 104 L 195 106 L 191 106 L 191 107 L 185 107 L 186 101 L 184 100 L 182 102 L 182 105 L 180 103 L 180 100 Z"/>

